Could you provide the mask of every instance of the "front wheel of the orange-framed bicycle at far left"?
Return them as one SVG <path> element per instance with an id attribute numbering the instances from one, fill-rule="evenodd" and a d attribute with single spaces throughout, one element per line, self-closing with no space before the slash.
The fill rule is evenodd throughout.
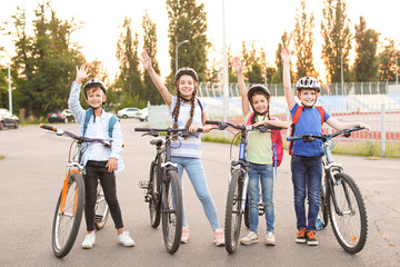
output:
<path id="1" fill-rule="evenodd" d="M 84 206 L 84 184 L 82 176 L 76 172 L 70 175 L 66 206 L 62 214 L 60 212 L 61 194 L 56 206 L 52 226 L 52 248 L 58 258 L 62 258 L 69 254 L 78 236 Z M 73 207 L 74 202 L 77 204 L 76 208 Z"/>

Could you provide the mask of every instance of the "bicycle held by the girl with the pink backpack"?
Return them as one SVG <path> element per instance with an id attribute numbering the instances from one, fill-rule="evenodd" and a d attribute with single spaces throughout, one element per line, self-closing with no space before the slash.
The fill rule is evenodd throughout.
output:
<path id="1" fill-rule="evenodd" d="M 259 130 L 261 132 L 271 132 L 271 130 L 281 130 L 280 127 L 274 126 L 257 126 L 252 127 L 242 126 L 242 125 L 232 125 L 230 122 L 223 121 L 211 121 L 207 120 L 206 125 L 217 125 L 217 128 L 224 130 L 228 127 L 239 130 L 234 134 L 234 137 L 231 142 L 231 154 L 232 146 L 237 137 L 240 137 L 239 144 L 239 159 L 231 161 L 230 177 L 229 177 L 229 187 L 227 196 L 227 206 L 226 206 L 226 218 L 224 218 L 224 237 L 226 237 L 226 249 L 229 254 L 233 254 L 237 249 L 242 215 L 246 212 L 246 201 L 247 201 L 247 189 L 249 185 L 249 162 L 244 158 L 246 147 L 247 147 L 247 131 Z M 246 214 L 244 214 L 246 216 Z M 246 218 L 244 218 L 246 220 Z"/>

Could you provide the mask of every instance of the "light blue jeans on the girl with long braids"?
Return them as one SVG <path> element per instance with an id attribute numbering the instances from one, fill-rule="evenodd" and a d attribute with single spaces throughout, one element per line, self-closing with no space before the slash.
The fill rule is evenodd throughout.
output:
<path id="1" fill-rule="evenodd" d="M 178 175 L 182 187 L 182 195 L 183 195 L 183 182 L 182 182 L 182 175 L 183 169 L 189 176 L 191 184 L 193 185 L 196 195 L 198 196 L 199 200 L 201 201 L 204 214 L 210 221 L 210 225 L 213 230 L 219 229 L 218 216 L 216 205 L 211 198 L 210 191 L 207 186 L 204 170 L 202 168 L 201 161 L 199 158 L 186 158 L 186 157 L 172 157 L 171 161 L 178 164 Z M 184 202 L 184 201 L 183 201 Z M 183 226 L 188 226 L 186 214 L 184 214 L 184 206 L 183 206 Z"/>

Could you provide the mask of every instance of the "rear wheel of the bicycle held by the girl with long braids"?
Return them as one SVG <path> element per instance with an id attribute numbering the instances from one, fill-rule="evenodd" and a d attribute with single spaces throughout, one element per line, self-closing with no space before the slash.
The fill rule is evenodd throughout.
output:
<path id="1" fill-rule="evenodd" d="M 150 178 L 148 194 L 150 195 L 149 211 L 150 224 L 152 228 L 157 228 L 160 225 L 161 219 L 161 201 L 160 201 L 160 188 L 158 182 L 158 166 L 156 161 L 151 161 Z"/>

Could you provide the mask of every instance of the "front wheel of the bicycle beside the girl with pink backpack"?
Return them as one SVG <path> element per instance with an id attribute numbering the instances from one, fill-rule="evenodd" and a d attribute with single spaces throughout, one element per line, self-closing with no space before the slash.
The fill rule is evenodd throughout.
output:
<path id="1" fill-rule="evenodd" d="M 239 241 L 241 226 L 240 206 L 243 190 L 242 180 L 242 171 L 234 170 L 229 184 L 224 218 L 226 249 L 229 254 L 236 251 Z"/>

